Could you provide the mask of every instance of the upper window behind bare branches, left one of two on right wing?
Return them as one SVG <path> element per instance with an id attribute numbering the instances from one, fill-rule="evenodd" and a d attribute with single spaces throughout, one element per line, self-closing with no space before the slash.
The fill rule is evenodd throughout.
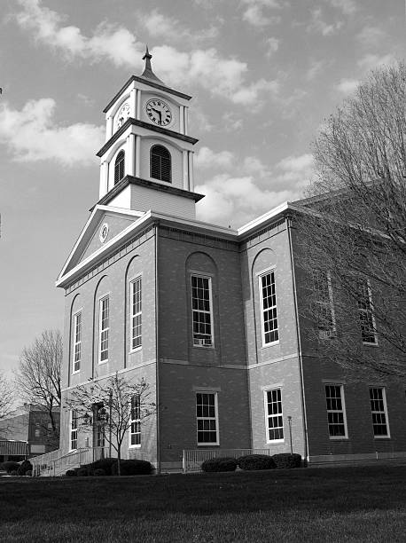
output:
<path id="1" fill-rule="evenodd" d="M 332 278 L 330 272 L 314 271 L 313 286 L 316 295 L 316 316 L 320 339 L 335 333 L 335 315 L 332 301 Z"/>

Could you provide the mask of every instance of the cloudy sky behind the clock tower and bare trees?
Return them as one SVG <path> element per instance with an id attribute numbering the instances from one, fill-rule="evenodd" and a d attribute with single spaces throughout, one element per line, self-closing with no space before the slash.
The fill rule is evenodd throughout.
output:
<path id="1" fill-rule="evenodd" d="M 404 57 L 403 0 L 1 0 L 0 370 L 63 327 L 55 279 L 98 201 L 102 110 L 130 75 L 191 94 L 200 220 L 301 198 L 324 119 Z"/>

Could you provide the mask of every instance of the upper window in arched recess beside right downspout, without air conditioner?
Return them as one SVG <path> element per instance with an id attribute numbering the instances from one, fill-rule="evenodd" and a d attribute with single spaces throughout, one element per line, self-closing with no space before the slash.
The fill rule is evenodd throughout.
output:
<path id="1" fill-rule="evenodd" d="M 275 272 L 269 271 L 260 277 L 262 345 L 277 342 L 277 293 Z"/>

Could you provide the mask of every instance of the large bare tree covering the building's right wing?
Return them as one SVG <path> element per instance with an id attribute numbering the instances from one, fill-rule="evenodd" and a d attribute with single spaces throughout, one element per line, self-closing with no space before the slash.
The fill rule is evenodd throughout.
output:
<path id="1" fill-rule="evenodd" d="M 324 354 L 363 374 L 406 374 L 405 85 L 403 62 L 381 68 L 332 114 L 297 202 L 305 315 Z"/>

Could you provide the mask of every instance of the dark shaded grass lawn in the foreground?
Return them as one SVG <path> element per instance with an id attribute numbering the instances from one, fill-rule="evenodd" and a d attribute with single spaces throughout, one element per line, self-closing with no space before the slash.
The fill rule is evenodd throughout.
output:
<path id="1" fill-rule="evenodd" d="M 0 478 L 0 541 L 406 541 L 406 466 Z"/>

